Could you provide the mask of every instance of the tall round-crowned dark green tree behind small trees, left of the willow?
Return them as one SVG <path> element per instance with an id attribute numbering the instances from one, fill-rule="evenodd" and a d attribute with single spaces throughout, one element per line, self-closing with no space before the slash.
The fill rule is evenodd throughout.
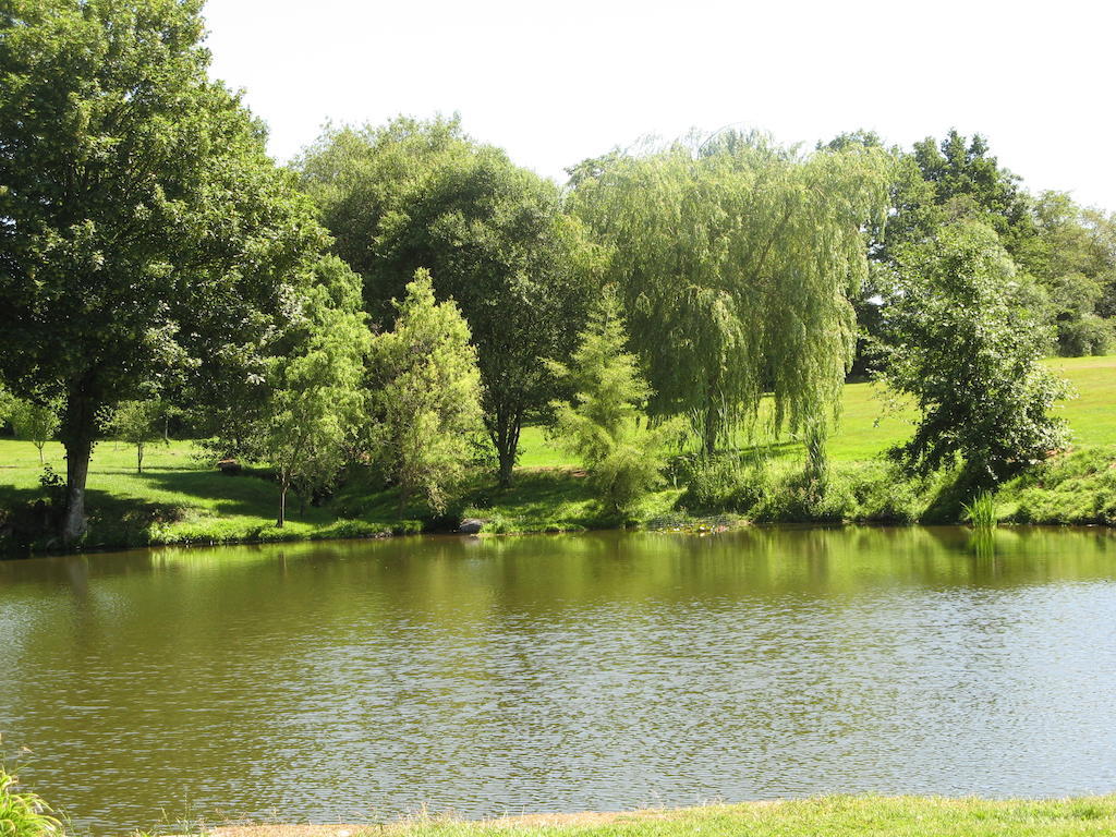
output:
<path id="1" fill-rule="evenodd" d="M 420 268 L 460 306 L 508 484 L 523 420 L 556 395 L 542 358 L 573 349 L 598 264 L 557 186 L 469 138 L 456 118 L 330 129 L 298 170 L 375 320 L 386 323 Z"/>

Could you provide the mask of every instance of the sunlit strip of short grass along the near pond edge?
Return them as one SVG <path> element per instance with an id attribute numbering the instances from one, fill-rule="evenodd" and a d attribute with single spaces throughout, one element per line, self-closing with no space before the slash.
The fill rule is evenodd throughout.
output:
<path id="1" fill-rule="evenodd" d="M 1116 797 L 1065 800 L 822 797 L 631 814 L 509 817 L 482 822 L 419 819 L 364 830 L 396 837 L 1085 837 L 1116 830 Z M 337 827 L 224 829 L 223 837 L 335 837 Z"/>

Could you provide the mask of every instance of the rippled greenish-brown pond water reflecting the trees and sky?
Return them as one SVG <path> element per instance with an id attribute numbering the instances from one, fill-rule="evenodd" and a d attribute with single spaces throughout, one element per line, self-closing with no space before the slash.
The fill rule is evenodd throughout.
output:
<path id="1" fill-rule="evenodd" d="M 0 734 L 25 785 L 96 834 L 1114 791 L 1116 535 L 754 529 L 0 562 Z"/>

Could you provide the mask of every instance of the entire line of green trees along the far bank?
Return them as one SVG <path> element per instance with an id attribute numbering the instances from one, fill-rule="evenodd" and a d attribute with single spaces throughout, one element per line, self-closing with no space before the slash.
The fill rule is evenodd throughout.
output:
<path id="1" fill-rule="evenodd" d="M 723 132 L 559 187 L 400 117 L 283 169 L 202 37 L 200 0 L 0 4 L 0 412 L 65 445 L 67 541 L 96 440 L 142 469 L 169 411 L 273 469 L 280 525 L 346 470 L 442 511 L 488 448 L 507 485 L 526 422 L 615 513 L 683 424 L 712 456 L 767 416 L 821 480 L 854 367 L 922 408 L 897 459 L 994 481 L 1062 442 L 1037 358 L 1112 339 L 1116 218 L 981 136 Z"/>

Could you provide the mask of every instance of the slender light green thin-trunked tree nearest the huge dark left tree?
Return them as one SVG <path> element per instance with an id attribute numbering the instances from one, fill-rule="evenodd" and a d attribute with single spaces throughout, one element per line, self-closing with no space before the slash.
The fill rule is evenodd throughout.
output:
<path id="1" fill-rule="evenodd" d="M 291 487 L 305 499 L 337 478 L 345 444 L 359 432 L 366 408 L 371 334 L 359 278 L 334 257 L 318 270 L 319 283 L 297 320 L 304 338 L 294 356 L 271 358 L 261 384 L 263 414 L 246 440 L 248 451 L 276 469 L 280 528 Z"/>

